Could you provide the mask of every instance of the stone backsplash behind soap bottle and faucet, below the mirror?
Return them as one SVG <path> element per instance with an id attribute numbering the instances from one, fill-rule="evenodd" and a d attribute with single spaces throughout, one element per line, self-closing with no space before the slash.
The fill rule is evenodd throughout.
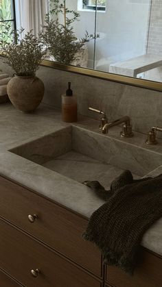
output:
<path id="1" fill-rule="evenodd" d="M 8 67 L 1 63 L 0 68 L 8 71 Z M 78 95 L 80 114 L 98 118 L 98 115 L 88 110 L 91 106 L 106 112 L 109 120 L 128 115 L 132 119 L 133 129 L 144 134 L 152 125 L 162 127 L 162 92 L 43 66 L 40 66 L 37 75 L 45 84 L 44 103 L 60 108 L 61 95 L 67 89 L 67 82 L 71 82 L 73 92 Z"/>

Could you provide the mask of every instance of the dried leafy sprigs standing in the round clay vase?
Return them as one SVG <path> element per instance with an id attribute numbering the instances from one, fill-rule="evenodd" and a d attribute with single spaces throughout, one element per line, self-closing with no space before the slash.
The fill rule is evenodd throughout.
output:
<path id="1" fill-rule="evenodd" d="M 2 55 L 5 55 L 4 62 L 12 66 L 16 75 L 34 76 L 46 51 L 43 50 L 40 38 L 36 38 L 32 30 L 21 39 L 23 31 L 22 28 L 16 32 L 12 31 L 14 42 L 0 40 L 0 49 Z"/>

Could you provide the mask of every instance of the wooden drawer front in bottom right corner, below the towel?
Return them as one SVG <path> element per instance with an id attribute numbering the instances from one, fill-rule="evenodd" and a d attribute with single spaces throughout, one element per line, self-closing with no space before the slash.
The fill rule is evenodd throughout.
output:
<path id="1" fill-rule="evenodd" d="M 141 260 L 133 276 L 116 267 L 108 266 L 106 281 L 115 287 L 161 287 L 162 258 L 141 248 Z"/>

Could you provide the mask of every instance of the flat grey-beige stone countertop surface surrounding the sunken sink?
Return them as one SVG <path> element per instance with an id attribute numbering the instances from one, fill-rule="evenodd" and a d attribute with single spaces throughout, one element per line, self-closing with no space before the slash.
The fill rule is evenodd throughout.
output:
<path id="1" fill-rule="evenodd" d="M 59 110 L 47 105 L 40 105 L 34 114 L 19 112 L 9 103 L 0 105 L 0 174 L 89 218 L 104 203 L 90 188 L 9 151 L 69 125 L 61 121 Z M 91 118 L 81 117 L 76 125 L 84 129 L 91 127 L 91 131 L 98 133 L 98 122 Z M 115 127 L 109 136 L 117 137 L 117 131 Z M 137 133 L 136 142 L 141 150 L 145 149 L 145 138 L 146 135 Z M 131 139 L 130 145 L 134 141 Z M 162 155 L 161 141 L 154 151 L 157 156 Z M 160 173 L 161 166 L 150 174 Z M 141 245 L 162 255 L 162 218 L 148 229 Z"/>

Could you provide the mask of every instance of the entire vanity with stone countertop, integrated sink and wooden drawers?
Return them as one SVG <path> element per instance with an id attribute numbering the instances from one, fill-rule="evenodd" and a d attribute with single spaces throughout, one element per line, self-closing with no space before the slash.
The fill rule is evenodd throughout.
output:
<path id="1" fill-rule="evenodd" d="M 105 266 L 99 249 L 82 240 L 89 216 L 104 201 L 81 183 L 87 180 L 86 169 L 89 180 L 96 173 L 106 188 L 126 167 L 135 177 L 161 173 L 161 140 L 150 148 L 143 134 L 121 139 L 121 127 L 102 135 L 97 121 L 82 118 L 75 125 L 62 123 L 60 112 L 47 107 L 32 115 L 5 105 L 0 114 L 4 116 L 0 125 L 0 285 L 161 287 L 161 219 L 143 236 L 133 277 Z M 60 162 L 67 163 L 67 168 L 62 169 Z M 82 162 L 85 173 L 78 175 Z"/>

